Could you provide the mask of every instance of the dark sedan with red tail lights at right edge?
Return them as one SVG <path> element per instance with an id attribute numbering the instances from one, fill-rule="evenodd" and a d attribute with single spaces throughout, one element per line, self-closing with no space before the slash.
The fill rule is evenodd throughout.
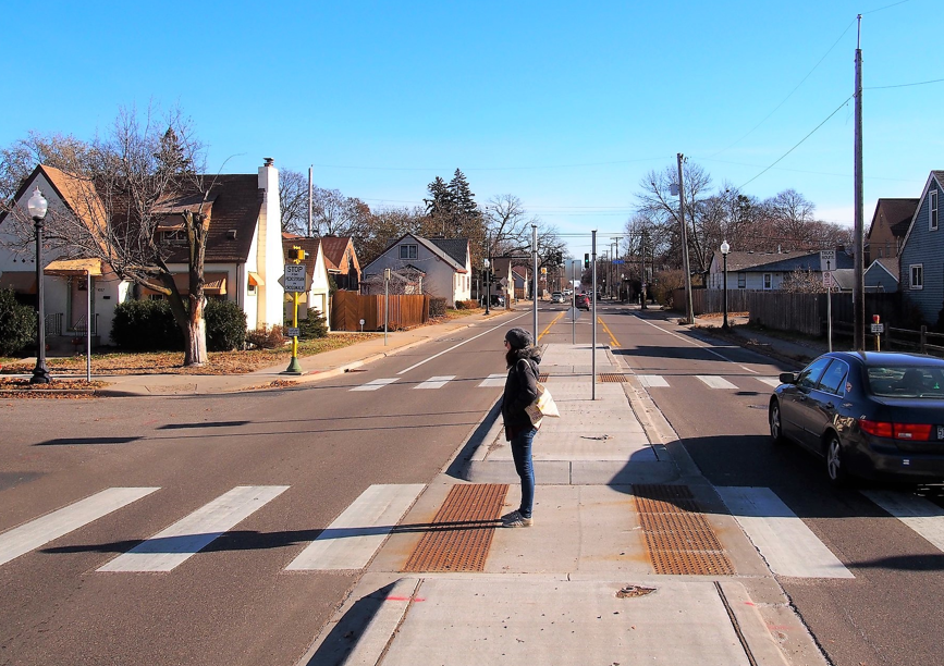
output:
<path id="1" fill-rule="evenodd" d="M 831 351 L 770 399 L 770 434 L 825 459 L 830 481 L 850 477 L 944 481 L 944 359 Z"/>

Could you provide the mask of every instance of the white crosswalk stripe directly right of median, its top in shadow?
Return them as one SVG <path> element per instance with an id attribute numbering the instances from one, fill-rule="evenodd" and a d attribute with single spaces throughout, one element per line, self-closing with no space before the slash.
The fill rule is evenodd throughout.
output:
<path id="1" fill-rule="evenodd" d="M 795 578 L 855 578 L 769 488 L 715 490 L 774 574 Z"/>

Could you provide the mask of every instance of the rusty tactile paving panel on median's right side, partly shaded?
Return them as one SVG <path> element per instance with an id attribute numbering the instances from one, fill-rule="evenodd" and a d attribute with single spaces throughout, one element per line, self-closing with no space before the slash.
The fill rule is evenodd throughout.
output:
<path id="1" fill-rule="evenodd" d="M 634 485 L 633 496 L 657 574 L 734 574 L 724 546 L 687 485 Z"/>

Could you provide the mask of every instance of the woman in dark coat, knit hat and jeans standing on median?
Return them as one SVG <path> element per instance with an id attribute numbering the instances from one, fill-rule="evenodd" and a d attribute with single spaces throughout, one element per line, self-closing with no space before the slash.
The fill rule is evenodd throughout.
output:
<path id="1" fill-rule="evenodd" d="M 502 527 L 531 527 L 531 509 L 535 504 L 535 466 L 531 461 L 531 443 L 538 429 L 525 411 L 525 407 L 538 397 L 538 363 L 541 353 L 531 344 L 531 334 L 524 329 L 505 333 L 505 363 L 508 378 L 502 396 L 502 418 L 505 423 L 505 440 L 511 442 L 515 471 L 522 479 L 520 508 L 502 516 Z"/>

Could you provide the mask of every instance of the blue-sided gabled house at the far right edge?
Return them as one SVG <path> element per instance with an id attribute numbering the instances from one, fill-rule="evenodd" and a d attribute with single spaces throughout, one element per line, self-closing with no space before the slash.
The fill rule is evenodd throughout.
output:
<path id="1" fill-rule="evenodd" d="M 944 171 L 932 171 L 918 199 L 898 254 L 899 289 L 930 324 L 944 309 L 944 230 L 941 198 Z"/>

